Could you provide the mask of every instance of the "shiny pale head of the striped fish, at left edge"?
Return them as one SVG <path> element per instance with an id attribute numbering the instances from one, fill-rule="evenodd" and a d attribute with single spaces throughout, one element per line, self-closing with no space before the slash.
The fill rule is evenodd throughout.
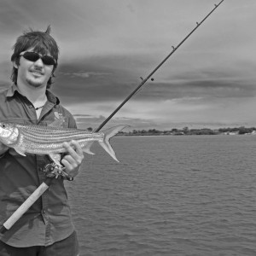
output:
<path id="1" fill-rule="evenodd" d="M 0 142 L 5 145 L 16 143 L 19 137 L 19 130 L 15 125 L 0 122 Z"/>

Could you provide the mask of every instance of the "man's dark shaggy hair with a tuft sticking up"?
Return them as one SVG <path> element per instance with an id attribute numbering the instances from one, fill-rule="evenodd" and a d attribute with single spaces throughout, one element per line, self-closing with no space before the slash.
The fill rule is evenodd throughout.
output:
<path id="1" fill-rule="evenodd" d="M 55 58 L 56 64 L 52 71 L 52 77 L 55 77 L 54 72 L 58 66 L 59 47 L 55 42 L 55 39 L 50 35 L 50 26 L 47 27 L 45 32 L 33 31 L 30 29 L 17 38 L 15 45 L 13 46 L 14 53 L 11 56 L 11 61 L 15 61 L 16 65 L 20 65 L 20 53 L 26 49 L 33 48 L 36 52 L 47 55 L 50 54 Z M 11 79 L 17 84 L 18 69 L 13 67 Z M 49 89 L 52 84 L 51 78 L 47 82 L 47 88 Z"/>

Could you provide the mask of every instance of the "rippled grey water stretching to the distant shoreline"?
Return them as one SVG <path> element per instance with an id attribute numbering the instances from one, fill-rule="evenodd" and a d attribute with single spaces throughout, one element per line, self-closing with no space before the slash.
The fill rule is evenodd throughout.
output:
<path id="1" fill-rule="evenodd" d="M 68 183 L 80 255 L 256 255 L 256 136 L 116 137 Z"/>

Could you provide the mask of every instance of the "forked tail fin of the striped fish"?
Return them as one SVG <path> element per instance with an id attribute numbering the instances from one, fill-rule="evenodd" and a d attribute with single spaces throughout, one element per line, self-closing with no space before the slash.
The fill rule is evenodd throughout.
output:
<path id="1" fill-rule="evenodd" d="M 119 160 L 117 160 L 117 158 L 115 156 L 115 152 L 114 152 L 113 148 L 111 147 L 109 140 L 112 137 L 114 137 L 119 131 L 122 131 L 127 126 L 128 125 L 118 125 L 118 126 L 114 126 L 112 128 L 102 131 L 104 133 L 104 138 L 103 138 L 103 142 L 99 142 L 99 143 L 102 146 L 102 148 L 104 148 L 108 152 L 108 154 L 110 154 L 110 156 L 112 156 L 113 160 L 116 160 L 117 162 L 119 162 Z"/>

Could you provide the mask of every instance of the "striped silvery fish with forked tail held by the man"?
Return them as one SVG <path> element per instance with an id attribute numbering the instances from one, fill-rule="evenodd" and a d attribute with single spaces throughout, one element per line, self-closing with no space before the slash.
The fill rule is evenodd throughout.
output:
<path id="1" fill-rule="evenodd" d="M 94 142 L 98 142 L 113 160 L 119 162 L 109 140 L 127 126 L 117 125 L 105 131 L 92 132 L 56 127 L 56 122 L 49 126 L 0 122 L 0 142 L 9 148 L 14 148 L 23 156 L 48 154 L 57 165 L 60 165 L 60 154 L 67 152 L 62 145 L 64 142 L 72 145 L 71 141 L 77 141 L 87 154 L 94 154 L 90 151 L 90 147 Z"/>

